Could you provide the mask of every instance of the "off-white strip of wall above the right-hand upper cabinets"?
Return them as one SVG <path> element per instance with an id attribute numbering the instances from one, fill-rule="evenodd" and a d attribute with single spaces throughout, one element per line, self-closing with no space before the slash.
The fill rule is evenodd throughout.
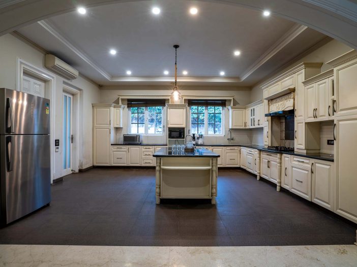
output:
<path id="1" fill-rule="evenodd" d="M 282 73 L 290 70 L 294 66 L 302 63 L 302 62 L 323 62 L 323 65 L 321 67 L 321 72 L 328 71 L 332 69 L 331 65 L 326 64 L 326 62 L 330 61 L 331 59 L 334 59 L 348 51 L 352 50 L 349 46 L 338 42 L 336 40 L 332 40 L 329 43 L 321 46 L 320 48 L 316 49 L 315 51 L 312 51 L 310 54 L 303 56 L 299 60 L 296 60 L 295 62 L 291 63 L 289 66 L 287 66 L 284 70 L 281 72 L 272 75 L 268 79 L 265 79 L 255 86 L 253 86 L 252 91 L 251 91 L 251 102 L 258 101 L 263 98 L 263 91 L 261 90 L 260 86 L 263 84 L 269 82 L 273 78 L 281 75 Z"/>

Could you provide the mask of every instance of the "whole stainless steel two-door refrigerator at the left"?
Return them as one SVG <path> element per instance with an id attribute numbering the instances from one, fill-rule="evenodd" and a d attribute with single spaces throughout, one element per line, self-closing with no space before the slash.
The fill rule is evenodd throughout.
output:
<path id="1" fill-rule="evenodd" d="M 51 201 L 49 99 L 0 88 L 2 224 Z"/>

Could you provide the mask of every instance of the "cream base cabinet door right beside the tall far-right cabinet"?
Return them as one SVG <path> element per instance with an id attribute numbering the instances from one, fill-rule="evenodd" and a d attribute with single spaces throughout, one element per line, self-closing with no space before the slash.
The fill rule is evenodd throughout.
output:
<path id="1" fill-rule="evenodd" d="M 314 160 L 311 166 L 312 172 L 312 202 L 333 210 L 333 163 L 322 160 Z"/>

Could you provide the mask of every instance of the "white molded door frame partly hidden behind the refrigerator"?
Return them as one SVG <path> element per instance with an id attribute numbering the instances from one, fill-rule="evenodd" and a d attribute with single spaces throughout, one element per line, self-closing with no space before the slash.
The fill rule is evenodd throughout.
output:
<path id="1" fill-rule="evenodd" d="M 50 72 L 38 68 L 33 64 L 30 64 L 24 61 L 21 58 L 17 58 L 17 68 L 16 68 L 16 81 L 15 81 L 15 90 L 21 91 L 22 88 L 22 79 L 23 73 L 33 75 L 40 80 L 45 81 L 45 97 L 50 99 L 50 153 L 51 153 L 51 183 L 54 179 L 54 170 L 55 170 L 55 161 L 54 161 L 54 133 L 55 133 L 55 84 L 56 78 Z"/>

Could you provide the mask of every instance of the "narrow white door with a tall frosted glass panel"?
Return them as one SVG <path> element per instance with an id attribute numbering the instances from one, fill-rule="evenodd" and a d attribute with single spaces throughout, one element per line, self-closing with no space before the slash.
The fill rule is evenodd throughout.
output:
<path id="1" fill-rule="evenodd" d="M 73 95 L 63 93 L 63 175 L 72 173 Z"/>

